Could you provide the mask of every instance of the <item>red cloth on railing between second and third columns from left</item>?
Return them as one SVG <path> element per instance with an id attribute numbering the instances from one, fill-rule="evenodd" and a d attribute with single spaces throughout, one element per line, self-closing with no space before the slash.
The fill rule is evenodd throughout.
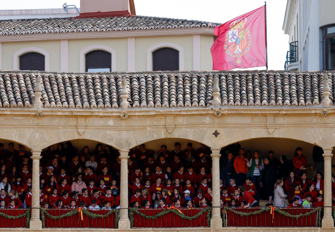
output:
<path id="1" fill-rule="evenodd" d="M 199 213 L 202 209 L 180 209 L 185 216 L 192 217 Z M 164 209 L 138 209 L 139 212 L 154 216 Z M 200 217 L 187 220 L 179 217 L 175 213 L 167 213 L 157 219 L 145 219 L 140 215 L 134 213 L 134 228 L 186 228 L 186 227 L 208 227 L 207 212 Z"/>

